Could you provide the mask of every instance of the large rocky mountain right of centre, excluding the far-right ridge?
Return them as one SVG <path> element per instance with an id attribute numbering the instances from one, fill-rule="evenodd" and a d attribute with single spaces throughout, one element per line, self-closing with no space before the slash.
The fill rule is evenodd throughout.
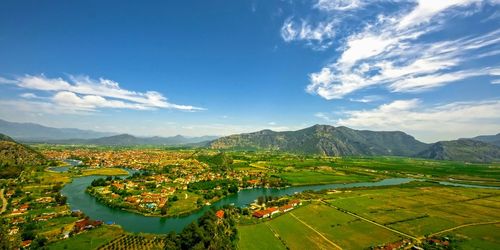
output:
<path id="1" fill-rule="evenodd" d="M 328 125 L 315 125 L 297 131 L 262 130 L 230 135 L 209 144 L 213 149 L 279 150 L 329 156 L 413 156 L 428 146 L 400 131 L 375 132 Z"/>

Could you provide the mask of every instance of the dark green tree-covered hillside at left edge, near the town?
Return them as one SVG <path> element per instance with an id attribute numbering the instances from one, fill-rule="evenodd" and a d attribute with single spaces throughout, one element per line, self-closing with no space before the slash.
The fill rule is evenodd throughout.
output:
<path id="1" fill-rule="evenodd" d="M 16 177 L 25 166 L 45 163 L 45 158 L 33 149 L 0 134 L 0 178 Z"/>

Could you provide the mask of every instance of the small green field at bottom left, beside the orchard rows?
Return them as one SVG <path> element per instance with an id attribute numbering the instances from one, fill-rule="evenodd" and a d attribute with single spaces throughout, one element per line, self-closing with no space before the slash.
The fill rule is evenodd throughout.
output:
<path id="1" fill-rule="evenodd" d="M 93 230 L 78 234 L 68 239 L 55 242 L 48 246 L 49 249 L 88 250 L 96 249 L 111 240 L 120 237 L 123 230 L 117 226 L 101 226 Z"/>

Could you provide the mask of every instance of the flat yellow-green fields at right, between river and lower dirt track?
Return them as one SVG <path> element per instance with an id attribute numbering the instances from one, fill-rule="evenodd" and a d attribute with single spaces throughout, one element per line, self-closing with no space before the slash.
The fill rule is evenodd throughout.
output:
<path id="1" fill-rule="evenodd" d="M 328 203 L 413 236 L 500 220 L 500 190 L 420 187 L 355 190 Z"/>

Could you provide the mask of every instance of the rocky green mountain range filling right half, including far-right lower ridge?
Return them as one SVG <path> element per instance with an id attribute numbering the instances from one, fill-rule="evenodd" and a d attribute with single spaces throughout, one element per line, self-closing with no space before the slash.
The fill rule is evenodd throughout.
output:
<path id="1" fill-rule="evenodd" d="M 327 156 L 386 155 L 470 162 L 500 161 L 500 147 L 474 139 L 427 144 L 401 131 L 354 130 L 315 125 L 297 131 L 262 130 L 221 137 L 209 144 L 221 150 L 276 150 Z"/>

